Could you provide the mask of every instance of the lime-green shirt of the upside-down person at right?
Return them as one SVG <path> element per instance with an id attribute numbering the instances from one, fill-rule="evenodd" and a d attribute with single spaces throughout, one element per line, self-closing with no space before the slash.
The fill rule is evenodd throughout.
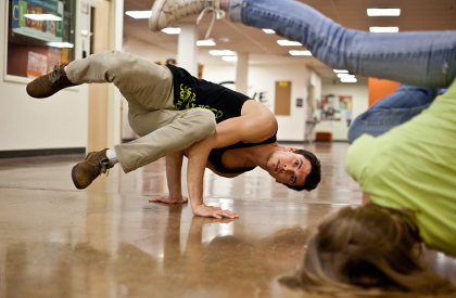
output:
<path id="1" fill-rule="evenodd" d="M 345 169 L 375 204 L 416 211 L 425 243 L 456 257 L 456 80 L 408 122 L 358 138 Z"/>

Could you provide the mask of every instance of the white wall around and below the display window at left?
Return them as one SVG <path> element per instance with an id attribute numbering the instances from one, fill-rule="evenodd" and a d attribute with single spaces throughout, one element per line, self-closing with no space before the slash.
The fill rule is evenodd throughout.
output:
<path id="1" fill-rule="evenodd" d="M 0 15 L 8 16 L 8 2 L 1 1 Z M 31 79 L 5 75 L 5 18 L 0 22 L 0 51 L 3 59 L 0 72 L 0 151 L 86 147 L 87 86 L 63 90 L 49 99 L 28 96 L 25 88 Z M 80 56 L 80 47 L 76 48 L 76 54 Z"/>

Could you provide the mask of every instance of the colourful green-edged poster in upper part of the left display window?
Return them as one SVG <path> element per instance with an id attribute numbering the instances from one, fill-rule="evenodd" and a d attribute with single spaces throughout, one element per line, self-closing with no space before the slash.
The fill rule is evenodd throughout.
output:
<path id="1" fill-rule="evenodd" d="M 63 10 L 61 1 L 13 0 L 12 31 L 48 42 L 62 42 Z M 48 20 L 41 20 L 46 16 Z M 49 18 L 52 18 L 49 20 Z"/>

